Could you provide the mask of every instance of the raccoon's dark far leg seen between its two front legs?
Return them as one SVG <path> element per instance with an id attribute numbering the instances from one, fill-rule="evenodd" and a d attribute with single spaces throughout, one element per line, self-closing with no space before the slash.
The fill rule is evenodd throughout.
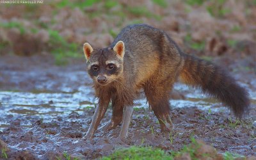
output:
<path id="1" fill-rule="evenodd" d="M 118 97 L 112 97 L 112 117 L 109 122 L 107 122 L 102 129 L 104 131 L 110 131 L 111 129 L 115 129 L 115 127 L 121 123 L 123 116 L 124 102 L 122 100 L 118 100 Z"/>

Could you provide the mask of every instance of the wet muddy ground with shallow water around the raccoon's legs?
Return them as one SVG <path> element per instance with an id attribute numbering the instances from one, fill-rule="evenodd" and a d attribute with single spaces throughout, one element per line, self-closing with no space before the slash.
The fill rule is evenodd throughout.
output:
<path id="1" fill-rule="evenodd" d="M 195 137 L 220 153 L 256 156 L 256 76 L 253 70 L 243 70 L 244 65 L 253 65 L 252 58 L 214 61 L 232 68 L 230 72 L 250 93 L 252 108 L 242 122 L 200 90 L 177 83 L 170 100 L 175 131 L 161 134 L 156 116 L 141 96 L 136 101 L 129 137 L 120 143 L 116 141 L 120 126 L 109 132 L 97 131 L 92 140 L 83 138 L 97 103 L 83 59 L 56 67 L 51 56 L 1 56 L 0 147 L 7 146 L 8 159 L 57 159 L 64 153 L 95 159 L 131 145 L 180 150 Z M 109 118 L 110 108 L 102 124 Z"/>

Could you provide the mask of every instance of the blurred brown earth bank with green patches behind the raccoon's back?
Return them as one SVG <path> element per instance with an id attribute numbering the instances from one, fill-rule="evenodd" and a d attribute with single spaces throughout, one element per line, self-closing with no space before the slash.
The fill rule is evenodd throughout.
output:
<path id="1" fill-rule="evenodd" d="M 255 0 L 87 0 L 0 4 L 0 55 L 81 58 L 82 45 L 108 46 L 129 24 L 166 31 L 185 52 L 212 60 L 255 54 Z M 234 55 L 236 54 L 236 55 Z"/>

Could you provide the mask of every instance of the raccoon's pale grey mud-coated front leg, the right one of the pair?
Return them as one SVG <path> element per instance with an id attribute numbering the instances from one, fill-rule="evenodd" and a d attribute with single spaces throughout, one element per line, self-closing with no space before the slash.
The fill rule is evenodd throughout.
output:
<path id="1" fill-rule="evenodd" d="M 124 116 L 122 118 L 122 128 L 120 134 L 118 136 L 119 140 L 125 140 L 128 135 L 129 124 L 131 122 L 133 106 L 125 106 L 124 108 Z"/>

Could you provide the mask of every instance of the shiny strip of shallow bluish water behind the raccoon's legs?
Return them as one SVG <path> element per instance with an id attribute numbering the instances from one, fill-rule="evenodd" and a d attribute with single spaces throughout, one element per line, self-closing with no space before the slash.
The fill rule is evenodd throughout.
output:
<path id="1" fill-rule="evenodd" d="M 243 84 L 247 88 L 246 84 Z M 177 83 L 175 90 L 184 94 L 186 99 L 170 100 L 172 108 L 197 107 L 207 111 L 225 111 L 225 108 L 216 99 L 209 98 L 200 90 L 196 90 Z M 248 89 L 252 103 L 256 104 L 256 93 Z M 84 108 L 94 108 L 97 99 L 93 96 L 91 86 L 80 86 L 77 92 L 0 92 L 1 117 L 10 115 L 37 115 L 51 120 L 57 115 L 68 115 L 75 112 L 83 112 Z M 138 99 L 136 108 L 148 108 L 146 99 Z M 8 126 L 10 122 L 0 122 L 0 130 Z M 23 124 L 31 125 L 31 124 Z"/>

